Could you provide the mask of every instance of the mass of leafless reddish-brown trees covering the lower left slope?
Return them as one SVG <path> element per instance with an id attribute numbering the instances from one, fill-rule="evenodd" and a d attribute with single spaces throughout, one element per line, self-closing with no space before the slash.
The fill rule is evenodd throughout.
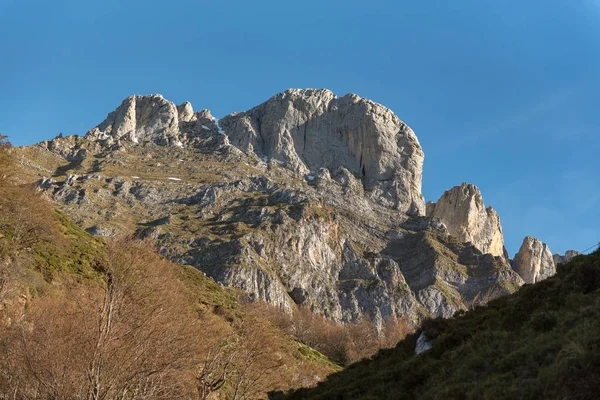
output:
<path id="1" fill-rule="evenodd" d="M 102 281 L 63 282 L 0 325 L 0 398 L 238 400 L 314 375 L 270 321 L 197 304 L 148 243 L 107 247 Z"/>

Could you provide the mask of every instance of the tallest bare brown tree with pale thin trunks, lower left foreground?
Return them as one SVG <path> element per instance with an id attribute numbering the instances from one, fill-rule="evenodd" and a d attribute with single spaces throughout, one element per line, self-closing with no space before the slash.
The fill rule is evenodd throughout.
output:
<path id="1" fill-rule="evenodd" d="M 165 279 L 173 266 L 131 239 L 112 243 L 109 254 L 102 308 L 90 330 L 89 400 L 147 392 L 150 382 L 189 367 L 197 350 L 199 321 L 182 287 Z"/>

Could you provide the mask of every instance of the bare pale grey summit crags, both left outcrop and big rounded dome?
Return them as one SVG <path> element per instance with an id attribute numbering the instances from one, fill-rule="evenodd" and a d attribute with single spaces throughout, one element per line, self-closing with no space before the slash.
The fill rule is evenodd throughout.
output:
<path id="1" fill-rule="evenodd" d="M 371 200 L 425 214 L 424 156 L 416 135 L 391 110 L 356 94 L 338 98 L 327 89 L 289 89 L 222 120 L 208 110 L 194 112 L 189 102 L 176 106 L 161 95 L 130 96 L 85 137 L 112 148 L 151 142 L 209 152 L 231 144 L 303 177 L 345 169 Z"/>

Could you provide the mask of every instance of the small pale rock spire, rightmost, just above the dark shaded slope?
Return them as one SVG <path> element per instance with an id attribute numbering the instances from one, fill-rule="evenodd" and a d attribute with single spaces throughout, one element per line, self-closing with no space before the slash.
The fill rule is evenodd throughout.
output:
<path id="1" fill-rule="evenodd" d="M 525 283 L 536 283 L 556 273 L 550 249 L 539 239 L 527 236 L 513 260 L 513 268 Z"/>

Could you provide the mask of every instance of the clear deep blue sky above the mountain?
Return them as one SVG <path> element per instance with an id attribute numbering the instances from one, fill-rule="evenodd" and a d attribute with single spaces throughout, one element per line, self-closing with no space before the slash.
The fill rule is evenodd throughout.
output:
<path id="1" fill-rule="evenodd" d="M 423 193 L 463 181 L 509 253 L 600 241 L 600 0 L 0 0 L 0 132 L 83 134 L 131 94 L 216 116 L 290 87 L 380 102 Z"/>

